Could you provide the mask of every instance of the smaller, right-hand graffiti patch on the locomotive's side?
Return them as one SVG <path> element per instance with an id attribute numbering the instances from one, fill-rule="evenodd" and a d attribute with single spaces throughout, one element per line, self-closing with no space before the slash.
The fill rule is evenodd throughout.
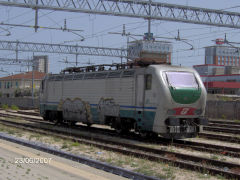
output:
<path id="1" fill-rule="evenodd" d="M 118 117 L 120 106 L 115 103 L 113 98 L 101 98 L 97 106 L 97 111 L 100 121 L 103 121 L 105 116 Z"/>

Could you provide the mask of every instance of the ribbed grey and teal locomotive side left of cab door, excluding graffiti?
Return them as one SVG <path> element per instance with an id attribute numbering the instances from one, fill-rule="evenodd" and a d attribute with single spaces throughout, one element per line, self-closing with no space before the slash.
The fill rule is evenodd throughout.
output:
<path id="1" fill-rule="evenodd" d="M 41 100 L 41 109 L 64 112 L 65 101 L 71 101 L 72 105 L 76 100 L 82 101 L 89 108 L 88 121 L 91 123 L 104 124 L 104 113 L 120 117 L 135 116 L 134 77 L 47 81 L 45 93 L 47 96 Z M 109 102 L 111 105 L 108 106 L 106 103 Z M 112 105 L 117 107 L 117 112 L 116 108 L 109 108 Z M 103 109 L 105 112 L 101 112 Z"/>

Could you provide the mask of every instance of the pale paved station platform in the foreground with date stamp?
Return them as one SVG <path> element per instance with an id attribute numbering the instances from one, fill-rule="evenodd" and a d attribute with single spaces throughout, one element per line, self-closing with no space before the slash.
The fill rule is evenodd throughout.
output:
<path id="1" fill-rule="evenodd" d="M 78 162 L 0 140 L 0 180 L 126 180 Z"/>

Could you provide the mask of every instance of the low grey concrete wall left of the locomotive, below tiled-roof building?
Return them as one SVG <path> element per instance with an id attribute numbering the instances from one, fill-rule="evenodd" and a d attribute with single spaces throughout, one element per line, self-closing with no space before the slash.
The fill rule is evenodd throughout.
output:
<path id="1" fill-rule="evenodd" d="M 7 104 L 8 106 L 16 105 L 19 108 L 24 109 L 32 109 L 39 108 L 39 99 L 34 99 L 32 102 L 32 98 L 0 98 L 0 105 Z"/>

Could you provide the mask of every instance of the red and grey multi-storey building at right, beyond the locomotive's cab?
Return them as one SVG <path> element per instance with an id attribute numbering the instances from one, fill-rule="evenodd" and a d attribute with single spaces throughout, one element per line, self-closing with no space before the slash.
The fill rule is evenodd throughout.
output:
<path id="1" fill-rule="evenodd" d="M 240 51 L 223 46 L 216 40 L 215 46 L 205 48 L 205 64 L 193 66 L 200 74 L 208 93 L 240 95 Z"/>

